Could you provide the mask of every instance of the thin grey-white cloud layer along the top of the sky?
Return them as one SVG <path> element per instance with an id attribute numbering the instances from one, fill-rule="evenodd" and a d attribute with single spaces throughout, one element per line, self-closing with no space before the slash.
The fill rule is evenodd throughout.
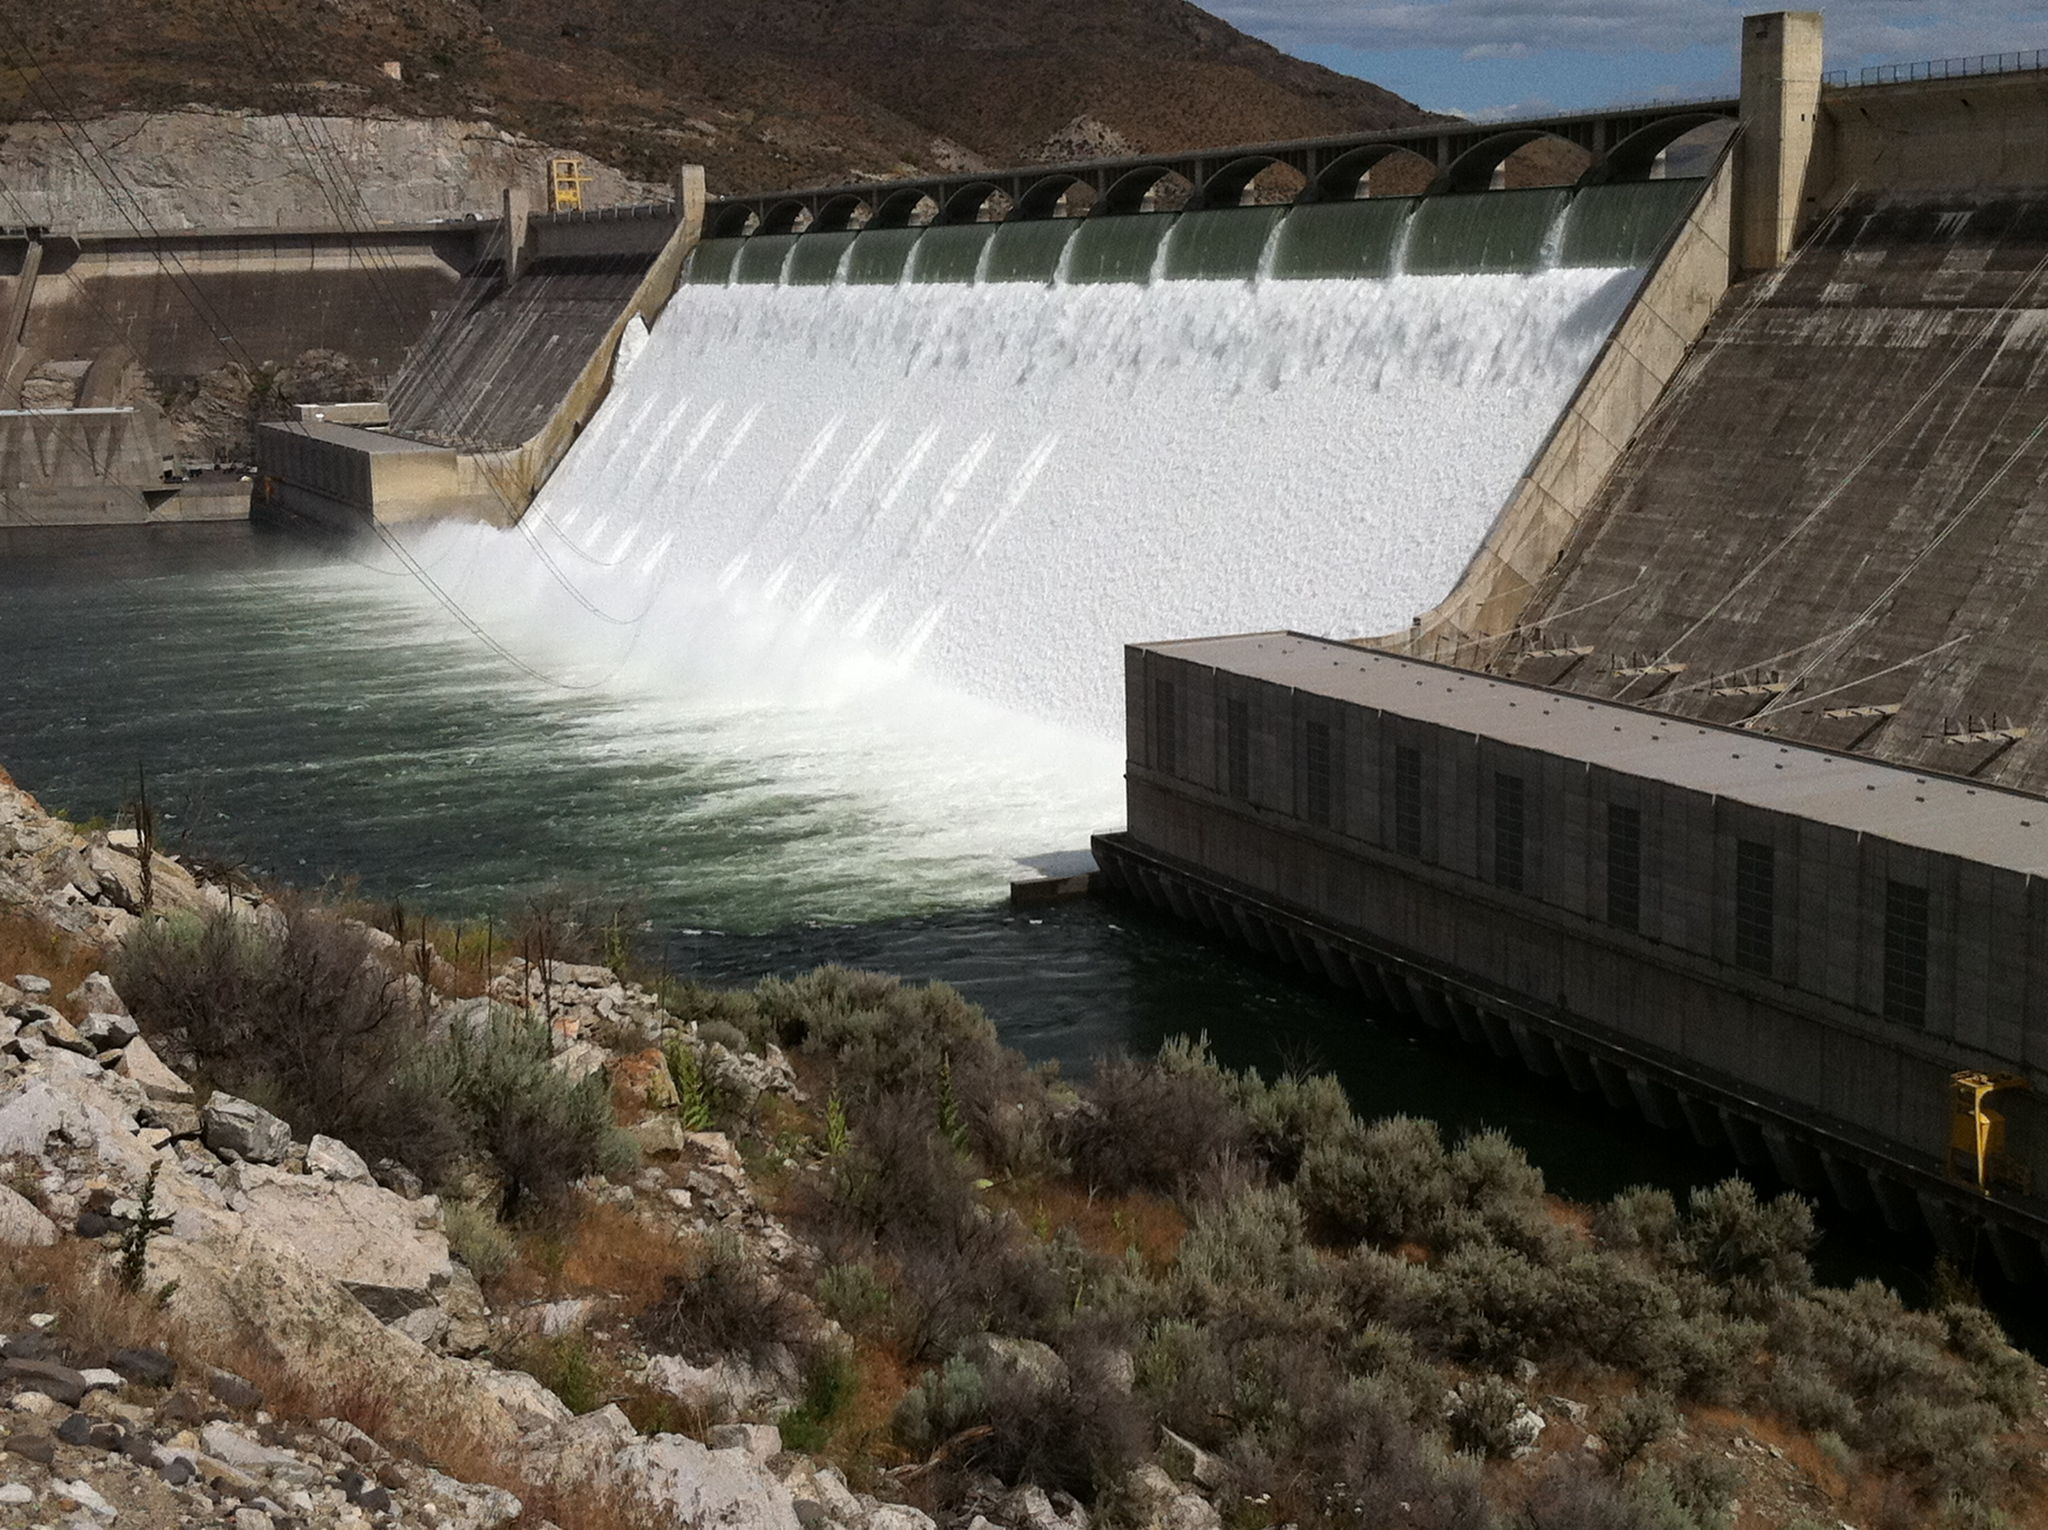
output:
<path id="1" fill-rule="evenodd" d="M 1210 0 L 1237 27 L 1280 47 L 1364 51 L 1432 47 L 1468 59 L 1536 51 L 1669 53 L 1737 43 L 1757 0 Z M 1960 12 L 1960 14 L 1958 14 Z M 2048 47 L 2048 0 L 1835 0 L 1829 57 L 1923 59 Z"/>

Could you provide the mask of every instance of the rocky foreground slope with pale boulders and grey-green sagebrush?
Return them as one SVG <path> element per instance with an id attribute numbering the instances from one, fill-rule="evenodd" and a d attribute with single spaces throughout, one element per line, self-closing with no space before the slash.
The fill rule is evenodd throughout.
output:
<path id="1" fill-rule="evenodd" d="M 0 776 L 0 1528 L 2040 1524 L 2042 1370 L 1200 1045 L 383 930 Z"/>

